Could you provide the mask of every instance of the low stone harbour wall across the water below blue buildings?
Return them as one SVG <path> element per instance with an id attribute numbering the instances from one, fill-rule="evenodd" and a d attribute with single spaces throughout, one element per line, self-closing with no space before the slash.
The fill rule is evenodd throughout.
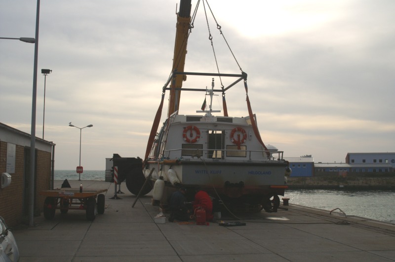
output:
<path id="1" fill-rule="evenodd" d="M 395 176 L 288 177 L 289 189 L 395 189 Z"/>

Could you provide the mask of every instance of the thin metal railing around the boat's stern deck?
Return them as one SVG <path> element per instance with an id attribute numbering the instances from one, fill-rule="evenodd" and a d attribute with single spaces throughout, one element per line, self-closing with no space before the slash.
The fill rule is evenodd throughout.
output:
<path id="1" fill-rule="evenodd" d="M 247 158 L 248 160 L 252 160 L 252 154 L 253 153 L 259 153 L 262 154 L 262 157 L 264 160 L 283 160 L 283 151 L 268 151 L 268 150 L 238 150 L 238 149 L 197 149 L 197 148 L 176 148 L 176 149 L 170 149 L 170 150 L 164 150 L 164 156 L 171 158 L 174 156 L 171 156 L 174 152 L 181 151 L 181 154 L 177 154 L 179 157 L 198 157 L 201 158 L 203 157 L 203 152 L 205 153 L 206 156 L 211 156 L 208 157 L 208 159 L 216 159 L 216 160 L 221 160 L 226 158 L 232 158 L 232 159 L 237 159 L 237 158 Z M 190 153 L 189 153 L 190 152 Z M 277 158 L 276 158 L 277 156 Z"/>

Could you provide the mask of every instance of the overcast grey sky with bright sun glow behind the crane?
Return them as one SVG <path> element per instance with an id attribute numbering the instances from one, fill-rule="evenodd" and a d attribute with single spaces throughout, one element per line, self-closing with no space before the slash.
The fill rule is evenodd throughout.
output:
<path id="1" fill-rule="evenodd" d="M 197 0 L 192 0 L 192 10 Z M 55 169 L 104 170 L 114 153 L 144 158 L 171 71 L 178 0 L 41 0 L 36 135 L 55 146 Z M 394 0 L 209 0 L 241 69 L 265 144 L 284 157 L 345 162 L 395 152 Z M 206 8 L 207 5 L 205 5 Z M 35 37 L 37 2 L 0 1 L 0 37 Z M 221 73 L 240 73 L 207 10 Z M 216 73 L 200 2 L 185 71 Z M 0 39 L 0 122 L 31 132 L 34 44 Z M 199 82 L 200 81 L 200 82 Z M 184 82 L 210 86 L 211 77 Z M 216 87 L 220 86 L 215 79 Z M 180 114 L 204 95 L 183 92 Z M 165 95 L 168 98 L 168 92 Z M 247 116 L 242 85 L 229 116 Z M 167 102 L 167 99 L 165 99 Z M 222 109 L 216 98 L 213 109 Z M 167 103 L 163 106 L 163 118 Z M 217 113 L 221 115 L 221 113 Z"/>

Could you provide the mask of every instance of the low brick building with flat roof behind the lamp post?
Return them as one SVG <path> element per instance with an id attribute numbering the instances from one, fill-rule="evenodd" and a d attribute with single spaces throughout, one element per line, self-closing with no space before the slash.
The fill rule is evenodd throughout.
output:
<path id="1" fill-rule="evenodd" d="M 30 142 L 30 134 L 0 123 L 0 173 L 11 175 L 10 185 L 0 188 L 0 216 L 9 226 L 28 220 Z M 42 211 L 45 198 L 39 192 L 51 189 L 54 149 L 54 143 L 36 137 L 35 215 Z"/>

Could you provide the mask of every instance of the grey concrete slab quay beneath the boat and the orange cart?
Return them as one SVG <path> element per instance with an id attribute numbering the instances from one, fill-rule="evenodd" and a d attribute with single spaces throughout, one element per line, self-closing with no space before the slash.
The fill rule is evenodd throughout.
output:
<path id="1" fill-rule="evenodd" d="M 60 188 L 63 181 L 55 181 Z M 78 188 L 80 181 L 69 181 Z M 159 207 L 136 197 L 124 183 L 82 181 L 83 188 L 108 189 L 104 214 L 87 221 L 84 210 L 56 210 L 53 220 L 35 217 L 35 227 L 13 229 L 20 262 L 316 262 L 395 261 L 395 226 L 388 223 L 293 205 L 276 213 L 239 215 L 245 226 L 156 224 Z M 168 217 L 169 214 L 166 214 Z M 225 222 L 237 221 L 222 217 Z"/>

